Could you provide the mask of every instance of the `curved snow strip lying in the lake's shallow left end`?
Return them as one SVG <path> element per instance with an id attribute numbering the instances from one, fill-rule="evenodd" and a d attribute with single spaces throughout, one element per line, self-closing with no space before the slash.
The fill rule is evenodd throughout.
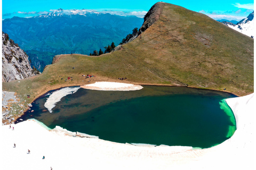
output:
<path id="1" fill-rule="evenodd" d="M 46 107 L 48 111 L 52 113 L 52 108 L 56 106 L 56 103 L 58 103 L 62 97 L 70 94 L 74 94 L 78 89 L 79 87 L 66 87 L 66 88 L 54 91 L 46 100 L 44 107 Z"/>

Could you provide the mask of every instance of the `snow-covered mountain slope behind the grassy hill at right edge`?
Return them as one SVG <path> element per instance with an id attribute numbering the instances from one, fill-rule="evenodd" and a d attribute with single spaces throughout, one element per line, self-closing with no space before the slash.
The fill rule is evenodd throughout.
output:
<path id="1" fill-rule="evenodd" d="M 225 25 L 228 25 L 228 27 L 243 33 L 246 36 L 254 37 L 254 11 L 247 16 L 247 18 L 239 21 L 237 24 L 233 24 L 230 22 L 222 22 Z"/>

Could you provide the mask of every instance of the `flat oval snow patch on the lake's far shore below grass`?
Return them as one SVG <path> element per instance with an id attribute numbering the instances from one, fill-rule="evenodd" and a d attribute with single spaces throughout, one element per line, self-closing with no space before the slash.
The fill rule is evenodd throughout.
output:
<path id="1" fill-rule="evenodd" d="M 93 84 L 87 84 L 80 86 L 84 89 L 91 90 L 102 90 L 102 91 L 130 91 L 140 90 L 143 87 L 140 85 L 128 84 L 128 83 L 117 83 L 117 82 L 95 82 Z"/>

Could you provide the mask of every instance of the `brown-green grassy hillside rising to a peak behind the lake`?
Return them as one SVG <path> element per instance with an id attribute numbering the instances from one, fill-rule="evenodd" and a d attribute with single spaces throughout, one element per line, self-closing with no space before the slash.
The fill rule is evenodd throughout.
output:
<path id="1" fill-rule="evenodd" d="M 121 50 L 57 59 L 37 77 L 3 83 L 3 90 L 16 91 L 23 99 L 29 94 L 31 101 L 49 89 L 126 77 L 120 82 L 226 88 L 241 96 L 253 92 L 253 39 L 204 14 L 167 3 L 159 19 Z M 96 77 L 88 82 L 82 74 Z M 73 81 L 65 81 L 67 77 Z"/>

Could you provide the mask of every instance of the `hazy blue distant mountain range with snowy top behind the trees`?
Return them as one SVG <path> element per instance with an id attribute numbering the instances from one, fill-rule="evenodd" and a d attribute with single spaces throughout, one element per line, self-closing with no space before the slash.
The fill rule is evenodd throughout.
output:
<path id="1" fill-rule="evenodd" d="M 118 45 L 143 19 L 119 16 L 93 10 L 54 10 L 33 18 L 3 20 L 3 31 L 25 50 L 31 66 L 43 71 L 54 55 L 93 53 L 110 45 Z"/>

